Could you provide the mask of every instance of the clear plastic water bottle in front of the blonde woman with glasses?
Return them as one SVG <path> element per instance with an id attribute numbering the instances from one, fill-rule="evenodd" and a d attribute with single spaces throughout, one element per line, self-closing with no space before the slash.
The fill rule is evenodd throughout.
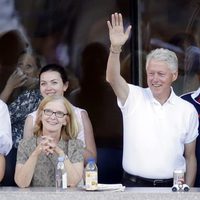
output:
<path id="1" fill-rule="evenodd" d="M 56 188 L 66 189 L 67 188 L 67 171 L 65 170 L 65 157 L 58 157 L 58 163 L 56 166 Z"/>

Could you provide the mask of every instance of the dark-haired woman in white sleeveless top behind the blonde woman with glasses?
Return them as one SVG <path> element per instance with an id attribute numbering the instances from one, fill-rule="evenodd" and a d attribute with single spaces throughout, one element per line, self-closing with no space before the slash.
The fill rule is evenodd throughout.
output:
<path id="1" fill-rule="evenodd" d="M 43 97 L 52 95 L 63 96 L 68 88 L 68 77 L 63 67 L 57 64 L 44 66 L 39 74 L 40 92 Z M 84 160 L 96 158 L 96 145 L 94 141 L 93 128 L 86 110 L 72 106 L 80 126 L 78 139 L 84 143 Z M 24 125 L 24 138 L 33 135 L 33 127 L 36 119 L 36 112 L 30 113 Z"/>

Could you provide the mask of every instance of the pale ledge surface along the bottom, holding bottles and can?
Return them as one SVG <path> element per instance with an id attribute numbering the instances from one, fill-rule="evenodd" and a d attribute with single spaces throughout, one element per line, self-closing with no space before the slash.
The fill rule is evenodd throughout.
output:
<path id="1" fill-rule="evenodd" d="M 18 188 L 0 187 L 0 200 L 200 200 L 200 188 L 191 188 L 189 192 L 172 192 L 171 188 L 126 188 L 116 191 L 85 191 L 68 188 L 56 191 L 56 188 Z"/>

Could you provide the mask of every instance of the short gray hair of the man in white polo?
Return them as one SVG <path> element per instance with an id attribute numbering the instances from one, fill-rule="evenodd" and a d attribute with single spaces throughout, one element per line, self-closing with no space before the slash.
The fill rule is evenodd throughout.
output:
<path id="1" fill-rule="evenodd" d="M 178 71 L 178 58 L 173 51 L 163 48 L 152 50 L 147 55 L 146 68 L 151 59 L 165 62 L 172 72 Z"/>

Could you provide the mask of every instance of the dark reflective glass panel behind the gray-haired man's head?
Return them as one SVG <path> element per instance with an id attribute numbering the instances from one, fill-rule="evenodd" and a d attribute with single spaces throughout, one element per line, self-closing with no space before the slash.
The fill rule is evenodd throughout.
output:
<path id="1" fill-rule="evenodd" d="M 175 51 L 179 59 L 179 78 L 173 85 L 175 92 L 196 90 L 200 83 L 199 1 L 139 0 L 139 15 L 141 55 L 157 47 Z M 145 59 L 141 60 L 140 70 L 145 73 Z M 146 85 L 145 77 L 141 82 Z"/>

